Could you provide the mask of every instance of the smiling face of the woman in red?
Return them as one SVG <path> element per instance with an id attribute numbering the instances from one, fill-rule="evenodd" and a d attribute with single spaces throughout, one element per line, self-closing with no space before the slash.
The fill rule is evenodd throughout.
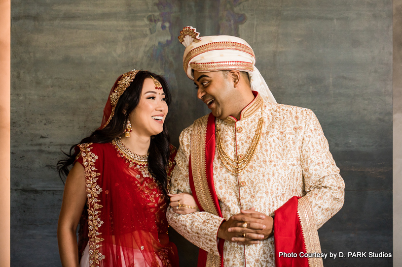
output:
<path id="1" fill-rule="evenodd" d="M 152 79 L 146 78 L 140 102 L 129 116 L 133 132 L 141 136 L 159 134 L 163 130 L 167 113 L 168 105 L 163 89 L 155 89 Z"/>

